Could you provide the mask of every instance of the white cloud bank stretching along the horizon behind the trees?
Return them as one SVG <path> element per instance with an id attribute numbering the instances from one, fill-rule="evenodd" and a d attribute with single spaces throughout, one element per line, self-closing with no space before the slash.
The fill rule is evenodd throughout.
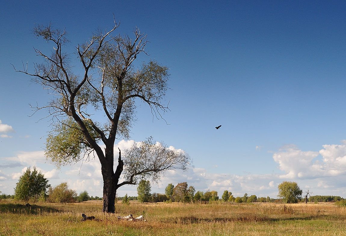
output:
<path id="1" fill-rule="evenodd" d="M 134 142 L 134 140 L 121 140 L 115 145 L 115 150 L 130 148 Z M 243 196 L 246 192 L 258 197 L 276 198 L 277 185 L 289 180 L 298 182 L 303 190 L 311 189 L 316 195 L 346 197 L 344 187 L 346 186 L 346 180 L 344 180 L 346 179 L 346 141 L 343 140 L 342 144 L 326 144 L 322 147 L 323 149 L 319 151 L 302 151 L 295 145 L 280 148 L 273 153 L 272 159 L 267 160 L 274 160 L 278 164 L 277 168 L 280 170 L 278 173 L 234 175 L 232 173 L 213 173 L 210 170 L 194 166 L 191 166 L 186 172 L 169 170 L 157 185 L 152 183 L 152 192 L 163 193 L 169 183 L 176 185 L 179 182 L 188 182 L 188 185 L 194 186 L 196 191 L 216 190 L 220 196 L 224 190 L 228 190 L 233 192 L 234 196 Z M 170 149 L 175 148 L 171 146 Z M 186 154 L 188 155 L 188 153 Z M 117 152 L 115 157 L 117 157 Z M 61 170 L 53 167 L 53 163 L 47 163 L 49 161 L 44 157 L 44 151 L 21 151 L 15 157 L 1 159 L 8 162 L 2 164 L 3 170 L 8 171 L 0 171 L 2 188 L 7 185 L 3 184 L 6 181 L 11 180 L 13 185 L 13 182 L 18 180 L 26 170 L 26 166 L 37 166 L 37 169 L 41 170 L 50 180 L 52 186 L 66 181 L 78 193 L 87 190 L 90 195 L 102 196 L 101 164 L 97 157 L 88 162 L 62 167 Z M 11 172 L 13 168 L 19 167 L 21 171 Z M 336 176 L 338 178 L 335 178 Z M 122 180 L 120 179 L 120 181 Z M 14 187 L 15 183 L 11 188 Z M 118 189 L 118 196 L 123 196 L 125 193 L 136 196 L 136 188 L 136 186 L 121 187 Z"/>

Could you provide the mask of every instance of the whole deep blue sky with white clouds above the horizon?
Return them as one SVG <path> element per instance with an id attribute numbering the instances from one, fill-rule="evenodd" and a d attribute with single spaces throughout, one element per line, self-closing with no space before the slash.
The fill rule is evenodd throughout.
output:
<path id="1" fill-rule="evenodd" d="M 0 9 L 0 191 L 13 194 L 23 169 L 37 166 L 54 186 L 102 195 L 97 160 L 56 170 L 43 156 L 47 115 L 29 103 L 49 96 L 11 64 L 40 62 L 35 24 L 65 28 L 82 44 L 97 28 L 146 32 L 150 56 L 170 68 L 171 112 L 153 120 L 138 103 L 131 139 L 153 136 L 192 159 L 188 172 L 168 172 L 152 192 L 187 181 L 197 190 L 235 196 L 277 195 L 296 181 L 316 195 L 346 197 L 346 19 L 344 1 L 7 1 Z M 11 64 L 10 64 L 11 63 Z M 78 70 L 76 66 L 76 70 Z M 40 120 L 40 121 L 39 121 Z M 216 130 L 215 126 L 222 125 Z M 119 140 L 120 141 L 120 140 Z M 120 147 L 126 147 L 121 142 Z M 119 196 L 136 195 L 121 187 Z"/>

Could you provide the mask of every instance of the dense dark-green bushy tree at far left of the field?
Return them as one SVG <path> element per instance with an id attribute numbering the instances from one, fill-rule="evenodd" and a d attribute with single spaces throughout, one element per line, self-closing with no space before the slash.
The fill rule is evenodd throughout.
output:
<path id="1" fill-rule="evenodd" d="M 44 177 L 41 171 L 33 170 L 29 167 L 20 177 L 15 188 L 15 199 L 18 200 L 44 200 L 46 197 L 48 179 Z"/>

